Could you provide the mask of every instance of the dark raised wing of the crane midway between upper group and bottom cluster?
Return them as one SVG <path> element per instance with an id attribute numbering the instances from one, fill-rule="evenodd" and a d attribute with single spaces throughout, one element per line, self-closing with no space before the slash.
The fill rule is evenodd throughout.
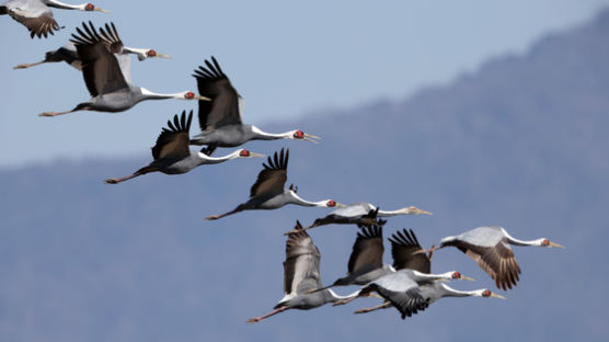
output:
<path id="1" fill-rule="evenodd" d="M 264 170 L 258 173 L 258 178 L 250 191 L 250 197 L 260 195 L 278 195 L 284 192 L 284 186 L 288 179 L 289 149 L 284 149 L 279 153 L 275 152 L 273 159 L 268 157 L 264 163 Z"/>

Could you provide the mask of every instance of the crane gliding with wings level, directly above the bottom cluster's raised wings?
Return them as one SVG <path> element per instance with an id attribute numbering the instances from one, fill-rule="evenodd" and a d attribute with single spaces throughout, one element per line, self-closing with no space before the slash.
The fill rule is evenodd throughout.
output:
<path id="1" fill-rule="evenodd" d="M 369 225 L 369 214 L 370 212 L 376 212 L 377 217 L 391 217 L 397 215 L 432 215 L 429 212 L 422 210 L 415 206 L 407 206 L 405 208 L 397 210 L 381 210 L 377 206 L 359 202 L 346 205 L 342 208 L 336 208 L 334 212 L 330 213 L 328 216 L 318 218 L 315 221 L 304 228 L 311 229 L 319 226 L 325 225 Z"/>

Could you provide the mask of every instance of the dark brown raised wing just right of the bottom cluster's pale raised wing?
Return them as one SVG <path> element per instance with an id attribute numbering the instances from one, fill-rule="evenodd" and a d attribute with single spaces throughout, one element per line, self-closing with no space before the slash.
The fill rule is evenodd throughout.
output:
<path id="1" fill-rule="evenodd" d="M 364 227 L 357 233 L 353 251 L 349 256 L 348 273 L 356 273 L 360 270 L 376 270 L 382 267 L 382 227 Z"/>

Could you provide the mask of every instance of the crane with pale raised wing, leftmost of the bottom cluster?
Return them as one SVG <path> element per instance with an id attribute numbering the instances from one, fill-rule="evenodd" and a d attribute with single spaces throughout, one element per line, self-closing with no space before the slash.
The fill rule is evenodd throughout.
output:
<path id="1" fill-rule="evenodd" d="M 328 303 L 335 303 L 356 296 L 338 296 L 332 289 L 311 292 L 322 286 L 320 275 L 321 254 L 311 237 L 296 221 L 295 232 L 286 241 L 286 261 L 284 262 L 284 293 L 274 310 L 260 317 L 251 318 L 249 323 L 258 322 L 267 317 L 288 309 L 309 310 Z"/>

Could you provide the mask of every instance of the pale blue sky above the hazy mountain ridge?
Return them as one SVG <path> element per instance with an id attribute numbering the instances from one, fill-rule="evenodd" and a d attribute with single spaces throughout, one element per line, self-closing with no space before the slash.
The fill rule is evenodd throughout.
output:
<path id="1" fill-rule="evenodd" d="M 12 70 L 61 46 L 83 20 L 113 21 L 126 45 L 153 47 L 172 60 L 133 64 L 134 82 L 158 92 L 195 89 L 192 70 L 215 55 L 245 100 L 248 123 L 289 121 L 321 109 L 403 99 L 476 69 L 489 58 L 520 54 L 537 38 L 589 20 L 609 0 L 539 1 L 100 1 L 111 14 L 55 11 L 66 30 L 32 41 L 0 20 L 0 167 L 57 158 L 127 158 L 148 153 L 165 121 L 195 103 L 141 103 L 118 114 L 38 113 L 89 99 L 66 65 Z M 286 124 L 286 130 L 290 127 Z M 194 133 L 194 132 L 193 132 Z"/>

